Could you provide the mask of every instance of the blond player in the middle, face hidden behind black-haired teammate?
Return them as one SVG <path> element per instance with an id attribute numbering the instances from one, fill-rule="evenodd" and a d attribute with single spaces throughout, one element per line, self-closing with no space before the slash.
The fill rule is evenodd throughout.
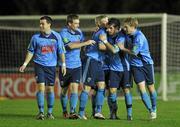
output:
<path id="1" fill-rule="evenodd" d="M 100 36 L 106 37 L 105 25 L 108 22 L 107 16 L 101 15 L 95 18 L 95 24 L 97 30 L 94 32 L 92 38 L 96 41 L 93 46 L 87 46 L 86 48 L 86 62 L 83 70 L 83 83 L 84 90 L 80 95 L 79 117 L 80 119 L 87 119 L 84 115 L 84 110 L 88 101 L 88 93 L 92 87 L 97 87 L 97 93 L 95 96 L 95 115 L 94 118 L 105 119 L 102 115 L 102 106 L 104 103 L 104 71 L 102 69 L 102 60 L 104 59 L 104 53 L 100 51 Z"/>

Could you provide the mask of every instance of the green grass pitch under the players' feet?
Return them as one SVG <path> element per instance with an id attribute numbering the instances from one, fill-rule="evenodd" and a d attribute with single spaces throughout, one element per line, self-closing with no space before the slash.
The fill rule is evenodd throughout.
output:
<path id="1" fill-rule="evenodd" d="M 124 100 L 118 100 L 120 120 L 95 120 L 90 118 L 91 104 L 86 113 L 88 120 L 68 120 L 62 118 L 62 110 L 57 99 L 54 106 L 55 120 L 39 121 L 36 100 L 0 100 L 0 127 L 180 127 L 180 101 L 158 100 L 158 118 L 149 120 L 149 113 L 141 100 L 133 100 L 133 121 L 126 120 Z M 108 118 L 109 110 L 105 100 L 103 114 Z"/>

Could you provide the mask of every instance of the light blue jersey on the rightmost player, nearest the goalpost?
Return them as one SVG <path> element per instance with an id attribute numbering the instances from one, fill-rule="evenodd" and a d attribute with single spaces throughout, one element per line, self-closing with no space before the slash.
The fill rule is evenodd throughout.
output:
<path id="1" fill-rule="evenodd" d="M 130 64 L 133 66 L 143 66 L 143 64 L 154 64 L 150 55 L 148 41 L 140 30 L 129 36 L 132 39 L 132 51 L 136 56 L 130 57 Z"/>

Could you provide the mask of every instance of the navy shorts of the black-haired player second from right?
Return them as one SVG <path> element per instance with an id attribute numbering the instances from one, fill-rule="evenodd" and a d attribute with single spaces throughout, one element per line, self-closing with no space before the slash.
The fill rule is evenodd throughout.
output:
<path id="1" fill-rule="evenodd" d="M 110 88 L 130 88 L 132 87 L 131 76 L 129 71 L 110 71 L 109 79 Z"/>

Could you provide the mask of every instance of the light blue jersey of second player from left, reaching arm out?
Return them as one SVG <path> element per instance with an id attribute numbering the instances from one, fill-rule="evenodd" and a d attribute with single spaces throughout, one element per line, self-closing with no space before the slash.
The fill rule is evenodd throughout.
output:
<path id="1" fill-rule="evenodd" d="M 78 68 L 81 66 L 80 48 L 68 49 L 68 45 L 74 42 L 84 41 L 83 33 L 80 29 L 70 30 L 68 27 L 60 31 L 60 35 L 66 48 L 66 66 L 67 68 Z M 61 63 L 60 63 L 61 64 Z"/>

